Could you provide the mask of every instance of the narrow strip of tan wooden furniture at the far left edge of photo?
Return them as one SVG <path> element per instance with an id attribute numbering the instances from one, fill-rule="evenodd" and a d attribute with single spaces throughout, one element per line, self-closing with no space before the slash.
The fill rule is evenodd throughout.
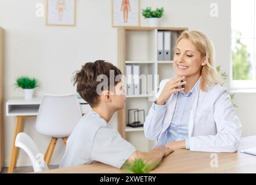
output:
<path id="1" fill-rule="evenodd" d="M 0 172 L 3 167 L 3 29 L 0 27 Z"/>

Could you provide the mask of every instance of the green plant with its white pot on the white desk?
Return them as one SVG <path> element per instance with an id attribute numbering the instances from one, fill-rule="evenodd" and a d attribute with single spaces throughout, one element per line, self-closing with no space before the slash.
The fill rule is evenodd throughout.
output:
<path id="1" fill-rule="evenodd" d="M 34 88 L 38 87 L 38 80 L 27 76 L 17 77 L 15 86 L 23 88 L 24 99 L 31 99 L 33 98 Z"/>

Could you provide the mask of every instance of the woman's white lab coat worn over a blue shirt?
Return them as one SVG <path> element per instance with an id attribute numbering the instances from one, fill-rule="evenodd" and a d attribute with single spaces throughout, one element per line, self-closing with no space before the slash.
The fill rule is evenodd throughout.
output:
<path id="1" fill-rule="evenodd" d="M 160 83 L 161 94 L 165 84 Z M 176 105 L 177 93 L 171 95 L 163 111 L 150 108 L 144 123 L 145 136 L 157 140 L 156 146 L 164 146 L 167 141 L 167 128 L 171 124 Z M 226 88 L 219 84 L 207 92 L 197 88 L 193 94 L 193 105 L 189 120 L 189 145 L 191 151 L 234 152 L 240 143 L 241 123 L 236 116 Z"/>

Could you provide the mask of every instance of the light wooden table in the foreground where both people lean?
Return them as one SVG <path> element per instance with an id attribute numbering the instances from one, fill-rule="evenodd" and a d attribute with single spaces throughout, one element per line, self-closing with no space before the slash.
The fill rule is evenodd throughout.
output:
<path id="1" fill-rule="evenodd" d="M 241 139 L 239 150 L 256 147 L 256 136 Z M 217 153 L 218 168 L 212 168 L 212 153 L 176 150 L 165 157 L 152 173 L 256 173 L 256 156 L 236 152 Z M 70 168 L 52 169 L 40 173 L 121 173 L 120 169 L 95 162 Z"/>

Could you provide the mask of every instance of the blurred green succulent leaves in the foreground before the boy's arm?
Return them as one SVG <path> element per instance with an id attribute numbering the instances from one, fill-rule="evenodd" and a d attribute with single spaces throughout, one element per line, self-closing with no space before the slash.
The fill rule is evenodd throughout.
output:
<path id="1" fill-rule="evenodd" d="M 132 163 L 126 162 L 122 169 L 124 173 L 149 173 L 157 164 L 148 164 L 142 158 L 135 159 Z"/>

